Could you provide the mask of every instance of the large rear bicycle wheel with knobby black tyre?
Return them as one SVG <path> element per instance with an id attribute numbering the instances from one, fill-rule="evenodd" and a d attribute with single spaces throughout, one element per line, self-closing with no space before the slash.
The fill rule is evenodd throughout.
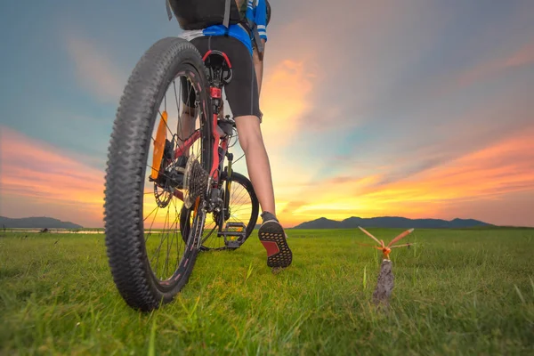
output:
<path id="1" fill-rule="evenodd" d="M 196 47 L 164 38 L 137 63 L 117 109 L 105 182 L 106 247 L 117 289 L 134 309 L 150 311 L 172 301 L 197 258 L 202 198 L 191 206 L 195 218 L 182 236 L 183 167 L 177 152 L 188 138 L 197 138 L 180 152 L 196 158 L 201 170 L 211 166 L 206 83 Z M 184 111 L 190 114 L 185 121 L 179 119 Z"/>

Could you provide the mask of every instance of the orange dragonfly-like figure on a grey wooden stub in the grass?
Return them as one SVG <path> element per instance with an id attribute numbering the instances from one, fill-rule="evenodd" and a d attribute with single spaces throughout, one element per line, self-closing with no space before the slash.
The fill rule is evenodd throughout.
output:
<path id="1" fill-rule="evenodd" d="M 368 235 L 369 238 L 374 239 L 379 246 L 366 245 L 366 244 L 360 244 L 360 245 L 374 247 L 382 251 L 384 258 L 382 260 L 382 264 L 380 265 L 380 273 L 378 274 L 378 279 L 376 281 L 376 288 L 375 288 L 375 291 L 373 292 L 373 303 L 375 303 L 376 305 L 382 304 L 384 307 L 387 307 L 389 306 L 389 299 L 390 299 L 390 296 L 392 295 L 392 290 L 394 287 L 394 279 L 395 279 L 395 277 L 393 276 L 392 262 L 389 259 L 389 255 L 392 252 L 392 248 L 409 247 L 412 245 L 412 244 L 404 244 L 404 245 L 393 246 L 395 242 L 398 242 L 400 239 L 407 237 L 412 231 L 414 231 L 414 229 L 409 229 L 407 231 L 402 232 L 400 235 L 392 239 L 389 244 L 385 245 L 384 240 L 382 239 L 378 240 L 371 233 L 369 233 L 362 227 L 359 226 L 359 228 L 366 235 Z"/>

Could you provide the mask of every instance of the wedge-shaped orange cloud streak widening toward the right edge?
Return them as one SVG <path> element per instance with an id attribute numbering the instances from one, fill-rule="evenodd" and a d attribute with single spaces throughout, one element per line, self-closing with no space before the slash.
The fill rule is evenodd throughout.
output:
<path id="1" fill-rule="evenodd" d="M 533 133 L 534 134 L 534 133 Z M 509 138 L 438 166 L 406 181 L 395 182 L 370 198 L 436 200 L 491 198 L 534 189 L 534 142 L 531 135 Z"/>

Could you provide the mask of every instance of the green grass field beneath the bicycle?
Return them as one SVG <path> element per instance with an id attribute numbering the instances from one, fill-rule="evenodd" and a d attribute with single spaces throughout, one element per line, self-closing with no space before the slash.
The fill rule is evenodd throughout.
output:
<path id="1" fill-rule="evenodd" d="M 388 313 L 370 303 L 381 258 L 360 231 L 287 233 L 287 270 L 271 272 L 254 234 L 199 255 L 148 314 L 118 295 L 102 235 L 4 234 L 0 353 L 534 354 L 534 230 L 416 230 L 417 247 L 392 251 Z"/>

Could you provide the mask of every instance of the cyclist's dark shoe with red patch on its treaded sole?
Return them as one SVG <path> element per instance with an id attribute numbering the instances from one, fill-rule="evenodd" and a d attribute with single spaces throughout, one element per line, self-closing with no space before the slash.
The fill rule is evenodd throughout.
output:
<path id="1" fill-rule="evenodd" d="M 293 254 L 287 246 L 286 234 L 279 223 L 275 221 L 263 223 L 258 231 L 258 237 L 267 250 L 269 267 L 287 267 L 291 264 Z"/>

